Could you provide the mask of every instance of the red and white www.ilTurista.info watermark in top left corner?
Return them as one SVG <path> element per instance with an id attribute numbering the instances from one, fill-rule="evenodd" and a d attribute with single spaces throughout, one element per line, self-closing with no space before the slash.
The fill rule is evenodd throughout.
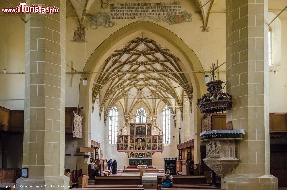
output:
<path id="1" fill-rule="evenodd" d="M 31 6 L 26 6 L 26 2 L 19 2 L 19 6 L 16 8 L 2 8 L 3 13 L 40 13 L 40 14 L 54 14 L 59 13 L 59 8 L 57 7 L 43 7 L 41 5 L 32 4 Z"/>

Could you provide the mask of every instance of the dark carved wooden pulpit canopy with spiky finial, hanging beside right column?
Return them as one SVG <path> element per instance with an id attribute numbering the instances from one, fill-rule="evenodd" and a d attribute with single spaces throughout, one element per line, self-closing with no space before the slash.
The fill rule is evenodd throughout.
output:
<path id="1" fill-rule="evenodd" d="M 214 73 L 216 69 L 217 67 L 213 63 L 211 68 L 212 81 L 206 84 L 208 93 L 204 94 L 196 103 L 196 107 L 200 109 L 202 114 L 226 112 L 232 106 L 232 96 L 222 91 L 223 81 L 215 80 Z"/>

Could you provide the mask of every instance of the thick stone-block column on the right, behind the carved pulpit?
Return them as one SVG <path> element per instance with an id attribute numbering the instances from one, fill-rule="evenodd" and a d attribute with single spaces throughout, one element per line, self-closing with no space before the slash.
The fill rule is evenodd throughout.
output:
<path id="1" fill-rule="evenodd" d="M 245 131 L 240 162 L 222 183 L 227 190 L 278 189 L 270 175 L 267 13 L 267 0 L 226 0 L 227 121 Z"/>

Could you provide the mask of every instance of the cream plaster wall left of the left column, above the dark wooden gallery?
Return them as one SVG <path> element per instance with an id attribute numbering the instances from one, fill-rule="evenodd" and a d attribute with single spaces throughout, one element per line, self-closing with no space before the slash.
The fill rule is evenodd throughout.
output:
<path id="1" fill-rule="evenodd" d="M 0 26 L 0 106 L 23 110 L 25 75 L 17 73 L 25 72 L 25 23 L 16 16 L 1 16 Z"/>

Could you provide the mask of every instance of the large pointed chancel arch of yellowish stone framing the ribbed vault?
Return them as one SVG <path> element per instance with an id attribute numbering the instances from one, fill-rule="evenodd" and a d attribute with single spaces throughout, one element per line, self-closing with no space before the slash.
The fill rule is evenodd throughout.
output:
<path id="1" fill-rule="evenodd" d="M 183 40 L 166 28 L 152 22 L 141 21 L 124 26 L 100 44 L 86 63 L 86 72 L 88 72 L 86 73 L 86 78 L 88 79 L 88 85 L 83 86 L 82 80 L 80 80 L 79 85 L 79 107 L 83 107 L 81 115 L 83 115 L 84 124 L 83 139 L 79 140 L 80 146 L 90 146 L 90 117 L 93 107 L 92 96 L 96 86 L 95 80 L 97 80 L 100 75 L 100 73 L 95 72 L 104 69 L 106 59 L 120 46 L 140 36 L 160 41 L 165 48 L 181 60 L 178 63 L 179 67 L 185 72 L 184 76 L 186 77 L 186 81 L 191 84 L 190 86 L 192 88 L 193 96 L 191 102 L 196 102 L 197 98 L 200 97 L 200 94 L 204 92 L 204 73 L 196 72 L 203 71 L 202 65 L 192 49 Z M 83 77 L 84 75 L 82 75 L 82 79 Z M 200 139 L 197 138 L 197 135 L 199 135 L 201 129 L 201 115 L 197 111 L 195 103 L 191 103 L 190 107 L 194 110 L 192 112 L 193 121 L 191 125 L 194 127 L 194 141 L 195 146 L 197 147 L 195 148 L 195 163 L 198 163 L 199 157 L 197 157 L 197 152 L 199 152 L 199 146 L 197 146 L 197 144 L 200 143 Z M 84 158 L 78 159 L 78 162 L 84 163 L 84 160 L 81 159 Z"/>

